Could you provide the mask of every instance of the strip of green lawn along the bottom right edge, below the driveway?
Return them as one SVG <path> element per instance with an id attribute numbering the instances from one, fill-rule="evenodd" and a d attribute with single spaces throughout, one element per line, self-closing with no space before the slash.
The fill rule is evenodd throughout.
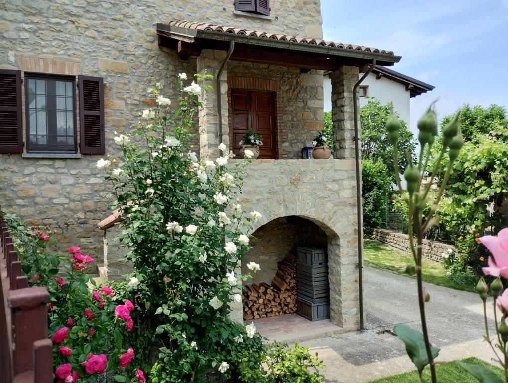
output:
<path id="1" fill-rule="evenodd" d="M 494 371 L 501 380 L 503 379 L 503 370 L 493 366 L 477 358 L 464 359 L 466 363 L 479 364 Z M 426 381 L 430 380 L 430 370 L 428 367 L 423 371 Z M 436 365 L 437 381 L 439 383 L 478 383 L 478 379 L 473 377 L 469 372 L 462 369 L 457 363 L 450 362 L 447 364 Z M 372 380 L 369 383 L 420 383 L 418 371 L 404 372 L 403 374 L 388 376 L 386 378 Z"/>

